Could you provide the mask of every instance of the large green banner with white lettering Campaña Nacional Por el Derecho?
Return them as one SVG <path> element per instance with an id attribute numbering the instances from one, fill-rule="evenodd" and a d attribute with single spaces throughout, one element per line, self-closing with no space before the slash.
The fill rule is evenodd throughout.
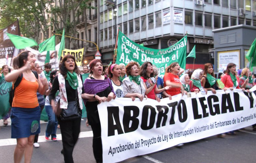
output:
<path id="1" fill-rule="evenodd" d="M 141 46 L 126 37 L 122 32 L 118 34 L 117 64 L 127 65 L 131 61 L 142 65 L 151 62 L 159 70 L 159 76 L 163 77 L 165 68 L 173 62 L 178 62 L 180 67 L 186 67 L 187 36 L 166 49 L 151 49 Z"/>

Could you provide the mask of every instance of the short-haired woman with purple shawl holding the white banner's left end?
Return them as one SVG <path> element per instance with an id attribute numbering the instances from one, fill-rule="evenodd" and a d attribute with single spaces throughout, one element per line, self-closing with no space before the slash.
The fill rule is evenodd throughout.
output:
<path id="1" fill-rule="evenodd" d="M 112 99 L 115 99 L 115 94 L 110 79 L 101 75 L 102 70 L 103 67 L 100 60 L 94 59 L 90 62 L 90 72 L 92 75 L 85 79 L 84 89 L 87 94 L 94 94 L 94 97 L 99 96 L 102 102 L 109 102 Z M 93 132 L 92 148 L 94 158 L 97 163 L 100 163 L 102 162 L 102 143 L 101 126 L 97 108 L 99 102 L 94 98 L 88 99 L 87 101 L 84 100 L 84 102 L 87 119 Z"/>

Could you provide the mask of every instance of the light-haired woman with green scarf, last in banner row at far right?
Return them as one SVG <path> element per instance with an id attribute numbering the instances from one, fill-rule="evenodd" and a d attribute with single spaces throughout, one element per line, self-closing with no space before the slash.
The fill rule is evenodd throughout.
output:
<path id="1" fill-rule="evenodd" d="M 248 78 L 249 74 L 249 78 Z M 255 86 L 255 83 L 252 80 L 252 73 L 249 71 L 249 68 L 243 68 L 241 77 L 239 78 L 239 87 L 244 88 L 245 90 L 251 89 Z"/>

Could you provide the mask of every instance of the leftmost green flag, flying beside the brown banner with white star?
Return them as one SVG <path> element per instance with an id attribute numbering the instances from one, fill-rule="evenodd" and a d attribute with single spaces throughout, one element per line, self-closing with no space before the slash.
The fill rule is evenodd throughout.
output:
<path id="1" fill-rule="evenodd" d="M 37 46 L 36 41 L 32 39 L 28 39 L 26 37 L 21 37 L 17 35 L 13 35 L 10 33 L 6 33 L 10 40 L 13 42 L 16 49 L 24 49 L 25 47 Z"/>

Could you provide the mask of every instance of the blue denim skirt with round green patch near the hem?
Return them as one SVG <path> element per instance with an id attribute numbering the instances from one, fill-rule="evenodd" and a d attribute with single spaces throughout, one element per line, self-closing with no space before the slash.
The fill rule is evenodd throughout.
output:
<path id="1" fill-rule="evenodd" d="M 40 133 L 40 107 L 12 107 L 12 138 L 27 138 Z"/>

